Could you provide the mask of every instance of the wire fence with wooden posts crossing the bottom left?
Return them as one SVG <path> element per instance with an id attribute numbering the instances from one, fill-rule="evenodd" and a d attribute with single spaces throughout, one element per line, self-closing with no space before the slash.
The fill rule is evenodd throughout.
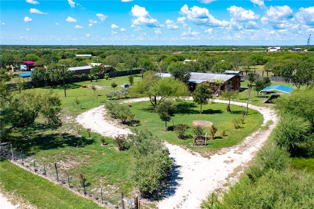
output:
<path id="1" fill-rule="evenodd" d="M 103 190 L 101 183 L 98 185 L 96 185 L 97 183 L 88 183 L 84 175 L 80 176 L 80 178 L 71 176 L 67 171 L 58 169 L 57 163 L 53 163 L 53 165 L 52 163 L 46 164 L 44 160 L 29 157 L 23 151 L 14 150 L 12 144 L 1 143 L 0 141 L 0 156 L 10 160 L 14 164 L 21 165 L 24 169 L 36 175 L 50 179 L 62 187 L 93 200 L 100 206 L 114 209 L 134 209 L 134 196 L 129 200 L 124 198 L 122 192 L 115 196 L 112 194 L 109 195 L 107 191 Z"/>

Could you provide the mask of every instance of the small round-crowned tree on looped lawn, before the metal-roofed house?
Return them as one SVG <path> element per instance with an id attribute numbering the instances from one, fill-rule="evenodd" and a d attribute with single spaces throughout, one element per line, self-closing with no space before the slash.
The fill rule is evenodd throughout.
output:
<path id="1" fill-rule="evenodd" d="M 196 104 L 201 105 L 200 114 L 202 114 L 202 105 L 208 104 L 209 99 L 211 98 L 212 98 L 212 92 L 209 89 L 208 83 L 203 82 L 196 86 L 196 89 L 193 92 L 193 101 Z"/>

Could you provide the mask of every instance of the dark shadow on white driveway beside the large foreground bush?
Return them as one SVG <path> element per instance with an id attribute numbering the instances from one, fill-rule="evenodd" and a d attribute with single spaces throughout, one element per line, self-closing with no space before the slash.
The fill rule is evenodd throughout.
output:
<path id="1" fill-rule="evenodd" d="M 150 201 L 160 201 L 175 195 L 180 185 L 179 181 L 182 180 L 182 177 L 179 177 L 181 165 L 177 165 L 173 158 L 171 160 L 172 166 L 170 167 L 169 175 L 163 179 L 161 188 L 148 197 Z"/>

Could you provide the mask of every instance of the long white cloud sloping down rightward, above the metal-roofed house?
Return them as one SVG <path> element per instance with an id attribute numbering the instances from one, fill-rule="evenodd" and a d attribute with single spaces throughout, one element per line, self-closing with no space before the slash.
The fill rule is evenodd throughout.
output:
<path id="1" fill-rule="evenodd" d="M 186 4 L 180 10 L 180 13 L 186 15 L 186 18 L 196 25 L 205 25 L 205 26 L 216 26 L 216 27 L 224 27 L 228 26 L 228 21 L 220 21 L 215 19 L 207 8 L 201 8 L 198 6 L 193 6 L 190 9 L 187 7 Z"/>

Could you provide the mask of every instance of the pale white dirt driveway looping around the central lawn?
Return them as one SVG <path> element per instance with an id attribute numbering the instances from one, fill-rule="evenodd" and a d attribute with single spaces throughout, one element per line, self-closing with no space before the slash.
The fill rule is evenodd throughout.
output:
<path id="1" fill-rule="evenodd" d="M 146 100 L 147 98 L 131 99 L 123 103 Z M 215 102 L 227 103 L 228 101 L 215 100 Z M 245 103 L 231 102 L 231 104 L 246 106 Z M 273 124 L 267 130 L 254 132 L 234 147 L 219 150 L 210 159 L 177 145 L 165 143 L 170 151 L 170 157 L 174 159 L 174 165 L 178 168 L 179 175 L 174 195 L 160 201 L 158 203 L 160 209 L 199 209 L 202 200 L 205 200 L 210 192 L 224 187 L 228 181 L 237 179 L 277 123 L 276 115 L 270 108 L 250 104 L 249 107 L 262 113 L 263 125 L 270 120 Z M 104 114 L 105 109 L 102 105 L 80 114 L 77 122 L 85 128 L 110 137 L 131 132 L 105 119 Z"/>

